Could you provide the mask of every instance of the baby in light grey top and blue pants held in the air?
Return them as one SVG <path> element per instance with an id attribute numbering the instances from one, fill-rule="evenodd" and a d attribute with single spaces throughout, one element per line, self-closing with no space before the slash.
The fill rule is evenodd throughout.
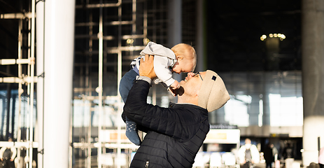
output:
<path id="1" fill-rule="evenodd" d="M 177 90 L 180 85 L 177 80 L 172 78 L 172 73 L 191 72 L 194 71 L 197 55 L 195 49 L 191 45 L 185 43 L 179 43 L 174 45 L 171 50 L 163 45 L 148 42 L 146 48 L 144 48 L 140 55 L 154 55 L 154 71 L 157 78 L 153 79 L 154 84 L 162 83 L 164 87 L 175 96 L 174 91 Z M 137 57 L 131 63 L 132 69 L 125 73 L 120 80 L 119 92 L 122 100 L 126 102 L 128 92 L 132 88 L 136 76 L 139 75 L 139 61 L 141 57 Z M 137 133 L 136 123 L 126 118 L 126 136 L 136 145 L 141 145 L 141 139 Z"/>

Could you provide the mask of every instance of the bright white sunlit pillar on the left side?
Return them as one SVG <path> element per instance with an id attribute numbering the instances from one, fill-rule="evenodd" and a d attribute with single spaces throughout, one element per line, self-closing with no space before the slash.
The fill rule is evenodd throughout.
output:
<path id="1" fill-rule="evenodd" d="M 45 1 L 43 167 L 69 167 L 76 1 Z"/>

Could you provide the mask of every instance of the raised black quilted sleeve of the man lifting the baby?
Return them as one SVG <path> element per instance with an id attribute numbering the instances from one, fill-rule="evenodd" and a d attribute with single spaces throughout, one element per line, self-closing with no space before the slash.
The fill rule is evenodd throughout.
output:
<path id="1" fill-rule="evenodd" d="M 137 125 L 186 141 L 195 132 L 199 117 L 186 109 L 170 109 L 146 103 L 150 84 L 136 80 L 129 91 L 123 114 Z"/>

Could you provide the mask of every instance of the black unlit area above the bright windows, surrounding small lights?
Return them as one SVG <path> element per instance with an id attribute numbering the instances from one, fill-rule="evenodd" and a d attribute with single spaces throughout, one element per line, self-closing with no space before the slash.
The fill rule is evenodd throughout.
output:
<path id="1" fill-rule="evenodd" d="M 295 0 L 213 1 L 207 8 L 208 68 L 215 71 L 302 69 L 301 2 Z M 284 34 L 273 51 L 262 34 Z M 269 39 L 269 36 L 268 36 Z"/>

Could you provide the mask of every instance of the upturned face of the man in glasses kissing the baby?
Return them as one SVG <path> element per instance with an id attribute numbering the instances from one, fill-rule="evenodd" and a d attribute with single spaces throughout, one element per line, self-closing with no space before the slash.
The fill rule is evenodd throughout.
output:
<path id="1" fill-rule="evenodd" d="M 206 75 L 206 71 L 199 73 L 189 72 L 185 80 L 181 80 L 180 89 L 178 90 L 178 95 L 182 96 L 182 94 L 187 95 L 195 95 L 199 93 L 200 86 L 202 85 L 202 80 L 204 80 L 204 76 Z"/>

